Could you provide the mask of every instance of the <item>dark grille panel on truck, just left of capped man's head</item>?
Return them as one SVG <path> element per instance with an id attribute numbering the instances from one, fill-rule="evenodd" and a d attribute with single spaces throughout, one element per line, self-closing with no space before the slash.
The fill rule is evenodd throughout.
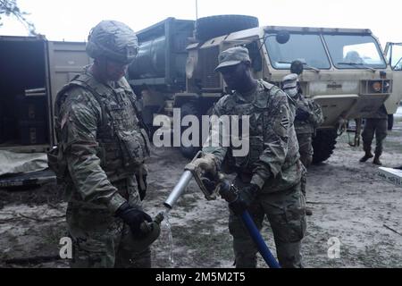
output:
<path id="1" fill-rule="evenodd" d="M 204 48 L 199 51 L 198 63 L 202 65 L 201 85 L 203 89 L 222 88 L 221 77 L 215 68 L 218 65 L 219 46 Z"/>

